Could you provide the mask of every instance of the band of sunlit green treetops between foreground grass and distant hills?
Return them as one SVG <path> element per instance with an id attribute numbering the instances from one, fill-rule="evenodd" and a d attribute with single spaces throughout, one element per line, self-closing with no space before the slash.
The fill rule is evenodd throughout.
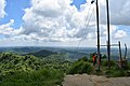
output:
<path id="1" fill-rule="evenodd" d="M 43 68 L 53 68 L 67 71 L 70 61 L 62 59 L 62 55 L 53 55 L 48 58 L 37 58 L 35 56 L 26 55 L 18 56 L 10 53 L 0 54 L 0 74 L 5 75 L 15 71 L 26 72 L 35 71 Z"/>

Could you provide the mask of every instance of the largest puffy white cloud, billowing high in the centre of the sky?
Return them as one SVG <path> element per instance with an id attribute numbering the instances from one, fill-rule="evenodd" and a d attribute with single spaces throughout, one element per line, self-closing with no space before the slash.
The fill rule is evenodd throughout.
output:
<path id="1" fill-rule="evenodd" d="M 88 3 L 84 5 L 86 10 L 78 12 L 70 2 L 70 0 L 32 0 L 31 8 L 26 9 L 23 16 L 23 34 L 36 33 L 38 38 L 47 38 L 48 41 L 70 41 L 84 37 L 87 33 L 84 20 L 90 16 L 87 15 Z M 89 29 L 91 30 L 91 27 Z"/>

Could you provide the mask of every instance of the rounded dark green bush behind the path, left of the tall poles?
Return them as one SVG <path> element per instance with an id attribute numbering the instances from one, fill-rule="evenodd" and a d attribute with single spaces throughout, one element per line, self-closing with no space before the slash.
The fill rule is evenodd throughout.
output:
<path id="1" fill-rule="evenodd" d="M 83 57 L 73 63 L 68 73 L 69 74 L 82 74 L 82 73 L 90 74 L 92 70 L 93 69 L 91 64 L 88 62 L 87 57 Z"/>

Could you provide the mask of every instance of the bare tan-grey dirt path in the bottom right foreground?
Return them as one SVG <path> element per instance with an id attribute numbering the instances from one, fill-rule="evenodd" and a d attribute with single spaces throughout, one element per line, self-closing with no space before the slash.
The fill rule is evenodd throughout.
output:
<path id="1" fill-rule="evenodd" d="M 110 77 L 75 74 L 66 75 L 63 86 L 130 86 L 130 77 Z"/>

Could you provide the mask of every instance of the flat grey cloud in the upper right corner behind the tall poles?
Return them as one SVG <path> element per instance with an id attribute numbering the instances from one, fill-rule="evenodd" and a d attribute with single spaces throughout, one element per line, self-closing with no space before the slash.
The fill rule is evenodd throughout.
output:
<path id="1" fill-rule="evenodd" d="M 102 24 L 106 24 L 106 2 L 100 1 L 100 18 Z M 129 0 L 109 0 L 109 14 L 112 25 L 130 25 L 130 1 Z"/>

